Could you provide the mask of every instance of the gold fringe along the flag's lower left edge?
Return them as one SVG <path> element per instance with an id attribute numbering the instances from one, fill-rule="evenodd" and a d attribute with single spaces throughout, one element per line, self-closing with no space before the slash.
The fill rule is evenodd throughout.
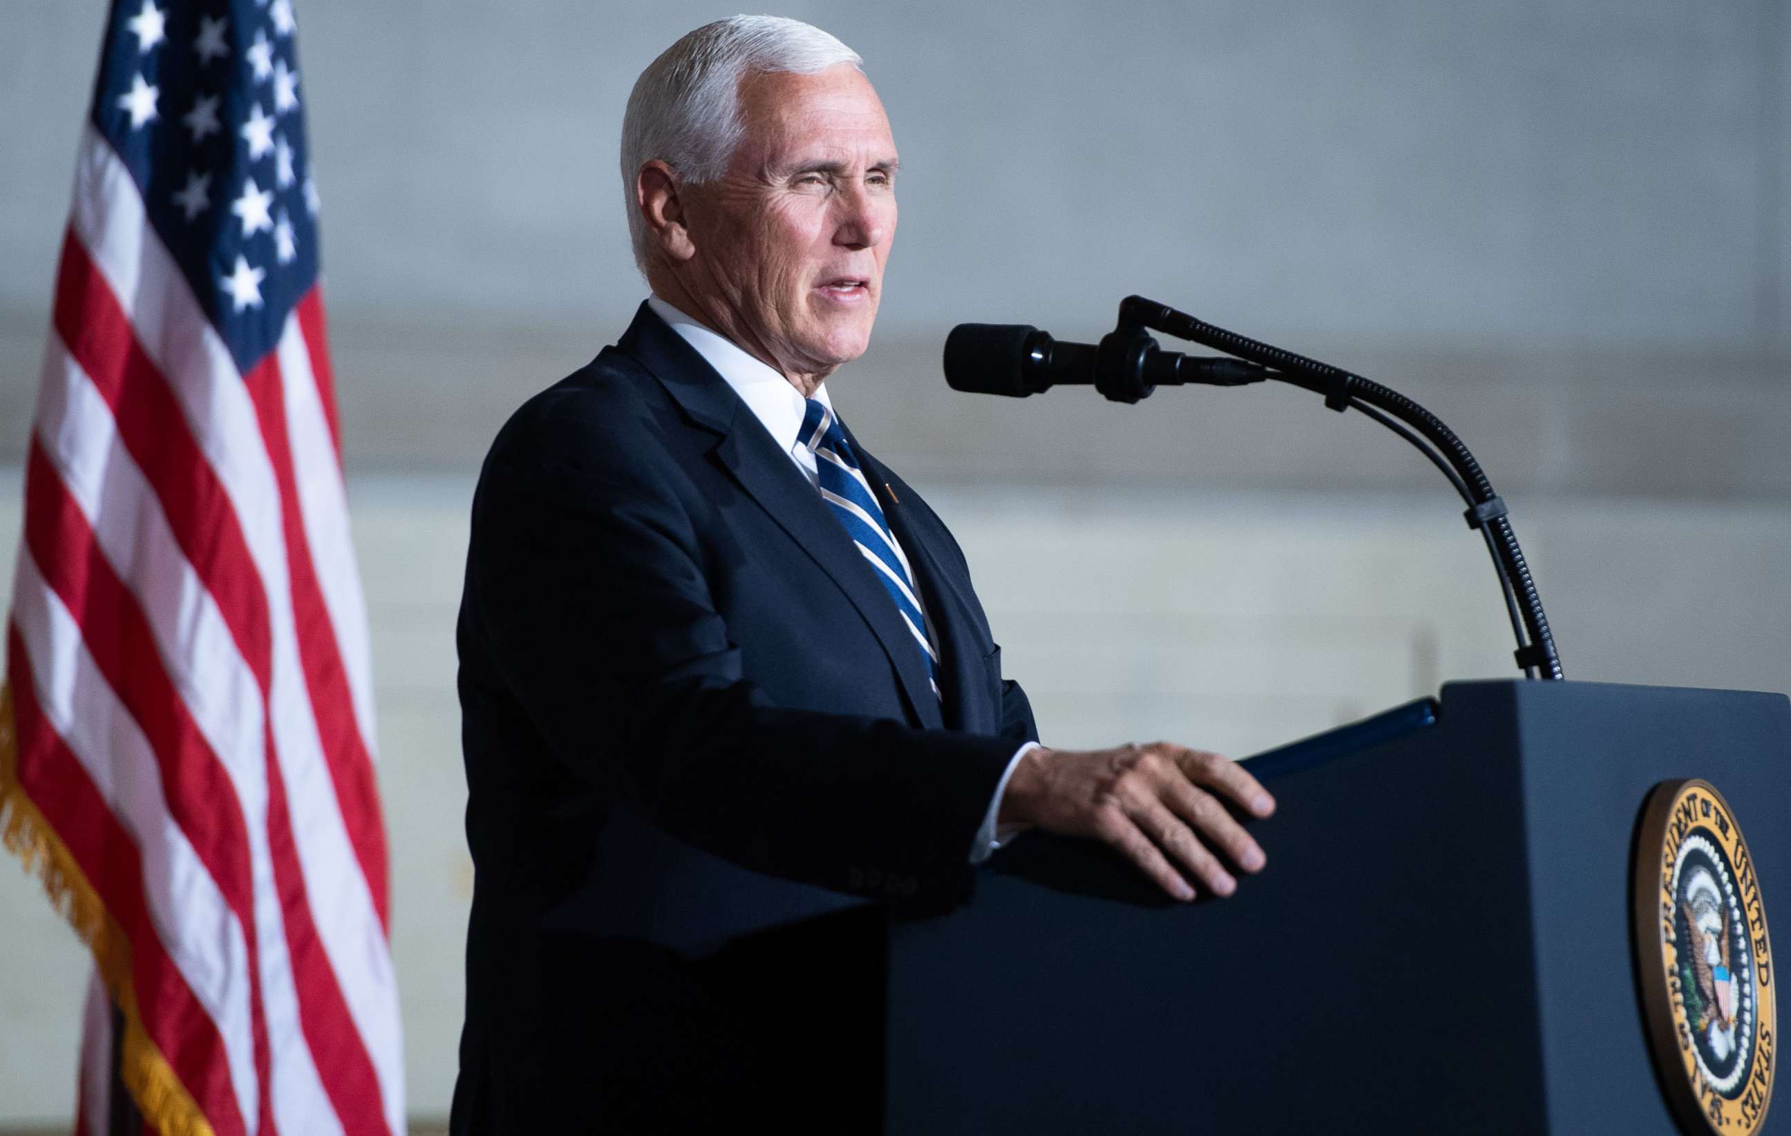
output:
<path id="1" fill-rule="evenodd" d="M 136 1100 L 138 1113 L 161 1136 L 215 1136 L 199 1104 L 143 1029 L 131 980 L 131 941 L 106 911 L 106 903 L 93 891 L 68 844 L 18 784 L 13 692 L 4 682 L 0 682 L 0 843 L 25 862 L 25 871 L 43 882 L 50 903 L 93 952 L 100 979 L 106 980 L 113 1004 L 124 1018 L 118 1073 Z"/>

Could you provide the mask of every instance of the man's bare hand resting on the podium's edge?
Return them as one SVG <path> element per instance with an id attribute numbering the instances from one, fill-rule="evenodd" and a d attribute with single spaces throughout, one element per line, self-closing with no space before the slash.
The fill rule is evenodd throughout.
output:
<path id="1" fill-rule="evenodd" d="M 1250 873 L 1261 871 L 1266 857 L 1221 796 L 1254 816 L 1275 810 L 1275 798 L 1218 753 L 1173 742 L 1094 751 L 1039 748 L 1014 767 L 998 823 L 1105 841 L 1178 900 L 1193 900 L 1195 889 L 1177 866 L 1214 894 L 1229 896 L 1238 880 L 1213 850 Z"/>

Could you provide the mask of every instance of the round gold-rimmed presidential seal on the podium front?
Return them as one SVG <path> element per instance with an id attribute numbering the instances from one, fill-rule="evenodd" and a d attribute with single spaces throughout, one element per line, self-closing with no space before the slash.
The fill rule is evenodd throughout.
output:
<path id="1" fill-rule="evenodd" d="M 1687 1134 L 1753 1136 L 1773 1095 L 1777 1005 L 1735 814 L 1709 782 L 1660 782 L 1635 855 L 1635 961 L 1667 1100 Z"/>

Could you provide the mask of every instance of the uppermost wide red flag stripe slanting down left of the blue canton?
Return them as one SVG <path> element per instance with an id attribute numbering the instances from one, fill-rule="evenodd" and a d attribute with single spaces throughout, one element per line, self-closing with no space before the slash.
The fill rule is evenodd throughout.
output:
<path id="1" fill-rule="evenodd" d="M 154 487 L 174 538 L 217 601 L 265 696 L 272 673 L 267 594 L 236 510 L 73 229 L 63 238 L 56 279 L 56 333 L 111 406 L 125 449 Z"/>

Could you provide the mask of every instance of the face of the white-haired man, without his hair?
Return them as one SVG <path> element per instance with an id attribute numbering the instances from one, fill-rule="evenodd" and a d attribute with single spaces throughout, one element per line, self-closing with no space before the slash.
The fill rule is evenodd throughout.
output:
<path id="1" fill-rule="evenodd" d="M 870 343 L 896 238 L 896 141 L 851 64 L 740 86 L 745 140 L 688 186 L 691 292 L 786 374 L 826 376 Z"/>

